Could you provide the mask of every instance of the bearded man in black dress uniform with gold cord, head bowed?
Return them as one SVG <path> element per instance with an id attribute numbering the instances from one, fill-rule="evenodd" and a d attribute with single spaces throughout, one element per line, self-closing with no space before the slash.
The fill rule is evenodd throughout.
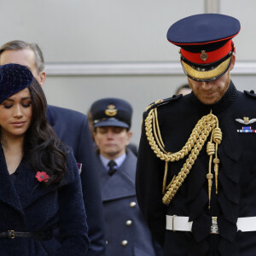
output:
<path id="1" fill-rule="evenodd" d="M 192 93 L 148 106 L 137 161 L 137 200 L 164 255 L 256 255 L 256 96 L 230 71 L 240 22 L 192 15 L 168 40 Z"/>

